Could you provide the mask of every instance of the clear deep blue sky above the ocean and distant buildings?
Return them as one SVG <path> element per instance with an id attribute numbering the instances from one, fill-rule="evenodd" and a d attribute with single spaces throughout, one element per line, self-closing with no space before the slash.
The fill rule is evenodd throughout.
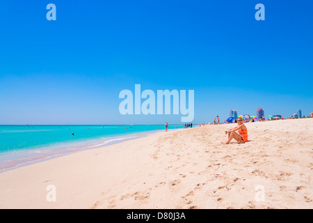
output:
<path id="1" fill-rule="evenodd" d="M 46 6 L 56 5 L 56 21 Z M 255 5 L 265 21 L 255 20 Z M 122 116 L 123 89 L 194 90 L 193 123 L 313 111 L 313 1 L 0 3 L 0 124 L 179 123 Z"/>

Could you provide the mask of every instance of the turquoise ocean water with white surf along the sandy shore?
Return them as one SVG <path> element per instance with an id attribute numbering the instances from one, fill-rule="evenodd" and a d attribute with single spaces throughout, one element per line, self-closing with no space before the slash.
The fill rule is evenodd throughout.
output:
<path id="1" fill-rule="evenodd" d="M 175 128 L 182 125 L 168 127 Z M 164 125 L 0 125 L 0 171 L 164 130 Z"/>

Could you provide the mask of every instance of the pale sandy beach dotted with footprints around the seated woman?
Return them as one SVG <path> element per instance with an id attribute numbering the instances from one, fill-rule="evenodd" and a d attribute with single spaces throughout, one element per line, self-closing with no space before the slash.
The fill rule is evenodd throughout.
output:
<path id="1" fill-rule="evenodd" d="M 313 208 L 313 118 L 153 134 L 0 173 L 0 208 Z M 47 186 L 56 201 L 47 201 Z"/>

